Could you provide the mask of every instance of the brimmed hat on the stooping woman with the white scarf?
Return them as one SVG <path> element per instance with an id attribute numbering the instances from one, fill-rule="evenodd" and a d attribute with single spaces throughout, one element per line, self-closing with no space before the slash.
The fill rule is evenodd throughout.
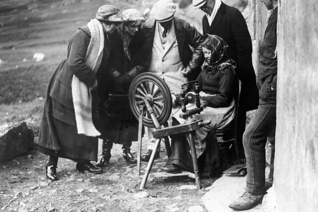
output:
<path id="1" fill-rule="evenodd" d="M 122 14 L 118 7 L 105 4 L 98 8 L 96 13 L 96 19 L 101 21 L 110 21 L 110 22 L 122 22 Z"/>

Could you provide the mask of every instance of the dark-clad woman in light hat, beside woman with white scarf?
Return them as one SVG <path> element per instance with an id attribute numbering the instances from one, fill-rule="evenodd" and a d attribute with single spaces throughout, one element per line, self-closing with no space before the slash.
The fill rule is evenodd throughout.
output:
<path id="1" fill-rule="evenodd" d="M 109 60 L 111 67 L 109 94 L 128 94 L 131 81 L 142 71 L 140 52 L 145 36 L 141 26 L 145 22 L 145 17 L 137 9 L 126 9 L 122 14 L 123 23 L 112 33 L 113 42 L 117 43 Z M 102 108 L 103 112 L 100 114 L 103 117 L 106 132 L 100 137 L 103 139 L 102 156 L 96 166 L 102 167 L 105 163 L 109 163 L 113 142 L 123 144 L 123 157 L 128 163 L 137 163 L 130 147 L 132 141 L 138 139 L 138 122 L 131 113 L 128 97 L 116 100 L 106 96 L 105 102 L 107 108 Z M 111 118 L 109 114 L 117 114 L 116 117 L 120 118 Z"/>

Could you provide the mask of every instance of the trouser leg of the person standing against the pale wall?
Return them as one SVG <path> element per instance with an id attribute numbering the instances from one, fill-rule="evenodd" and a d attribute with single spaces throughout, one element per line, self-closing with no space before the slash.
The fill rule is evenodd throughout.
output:
<path id="1" fill-rule="evenodd" d="M 246 157 L 246 192 L 265 193 L 265 145 L 267 136 L 276 125 L 276 101 L 259 101 L 258 110 L 243 135 Z"/>

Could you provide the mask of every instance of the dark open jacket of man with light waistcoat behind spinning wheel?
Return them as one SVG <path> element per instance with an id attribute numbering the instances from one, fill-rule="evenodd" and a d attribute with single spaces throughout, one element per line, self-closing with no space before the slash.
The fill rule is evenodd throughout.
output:
<path id="1" fill-rule="evenodd" d="M 203 37 L 195 27 L 190 26 L 185 20 L 173 17 L 173 21 L 180 59 L 185 67 L 190 67 L 192 70 L 187 75 L 188 80 L 194 80 L 199 75 L 204 61 L 202 52 Z M 144 71 L 148 70 L 151 63 L 156 25 L 157 21 L 155 19 L 149 19 L 145 22 L 143 28 L 147 38 L 142 53 L 144 58 Z M 193 48 L 193 51 L 189 45 Z"/>

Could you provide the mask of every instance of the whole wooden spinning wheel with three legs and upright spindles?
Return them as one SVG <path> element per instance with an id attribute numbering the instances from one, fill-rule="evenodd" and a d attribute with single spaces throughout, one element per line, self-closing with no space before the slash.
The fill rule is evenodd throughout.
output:
<path id="1" fill-rule="evenodd" d="M 172 110 L 172 99 L 171 93 L 164 82 L 157 74 L 155 73 L 142 73 L 135 77 L 132 81 L 129 88 L 129 106 L 136 117 L 139 120 L 138 126 L 138 143 L 139 143 L 139 153 L 137 156 L 137 173 L 140 176 L 140 160 L 141 160 L 141 151 L 142 151 L 142 128 L 143 125 L 150 128 L 155 128 L 153 132 L 153 137 L 156 139 L 155 148 L 150 156 L 143 180 L 140 185 L 140 189 L 144 189 L 149 173 L 153 166 L 155 159 L 155 154 L 159 149 L 160 141 L 163 140 L 167 149 L 167 154 L 169 156 L 168 150 L 171 152 L 170 144 L 167 136 L 185 133 L 189 138 L 191 156 L 193 161 L 193 171 L 195 175 L 195 182 L 197 188 L 200 189 L 200 177 L 198 169 L 198 161 L 196 156 L 195 144 L 193 139 L 193 132 L 205 125 L 211 123 L 211 121 L 202 121 L 193 119 L 192 115 L 200 113 L 203 111 L 203 108 L 200 107 L 199 101 L 199 89 L 198 86 L 195 89 L 196 91 L 196 101 L 197 108 L 192 110 L 186 110 L 185 105 L 188 104 L 190 97 L 185 96 L 185 91 L 181 89 L 181 103 L 182 114 L 180 118 L 185 120 L 184 124 L 177 126 L 163 127 L 168 118 L 170 117 Z M 193 97 L 191 97 L 193 98 Z M 191 174 L 191 173 L 190 173 Z M 182 174 L 181 175 L 185 175 Z M 188 175 L 188 174 L 186 174 Z M 171 175 L 170 175 L 171 176 Z"/>

